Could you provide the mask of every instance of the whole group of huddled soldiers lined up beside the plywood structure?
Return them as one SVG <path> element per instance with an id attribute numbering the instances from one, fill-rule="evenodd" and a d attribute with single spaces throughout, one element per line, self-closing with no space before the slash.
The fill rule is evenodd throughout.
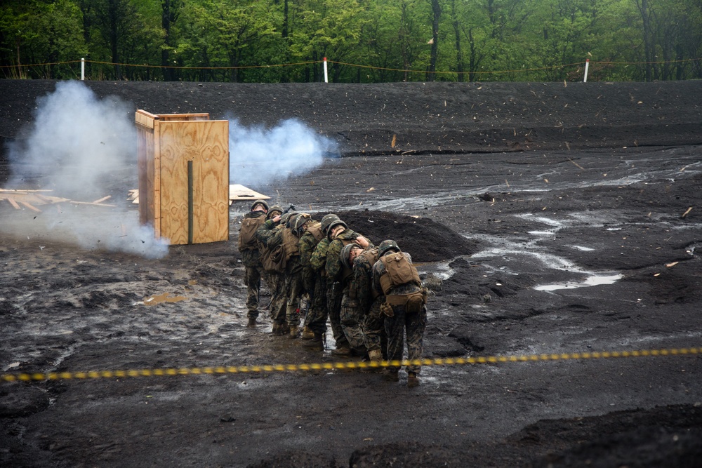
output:
<path id="1" fill-rule="evenodd" d="M 390 239 L 378 246 L 338 215 L 314 220 L 293 207 L 256 200 L 239 229 L 249 328 L 258 325 L 261 280 L 271 295 L 272 333 L 324 351 L 327 321 L 335 356 L 371 363 L 420 359 L 427 323 L 427 290 L 409 253 Z M 304 306 L 304 307 L 303 307 Z M 302 312 L 301 312 L 302 311 Z M 407 385 L 419 385 L 420 366 L 406 366 Z M 399 382 L 399 367 L 385 378 Z"/>

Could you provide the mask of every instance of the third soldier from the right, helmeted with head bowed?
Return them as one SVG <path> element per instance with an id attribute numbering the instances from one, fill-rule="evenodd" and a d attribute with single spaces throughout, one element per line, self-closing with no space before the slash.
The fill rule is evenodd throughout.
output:
<path id="1" fill-rule="evenodd" d="M 327 308 L 329 309 L 329 319 L 332 328 L 335 322 L 342 327 L 346 337 L 347 345 L 339 346 L 337 341 L 336 349 L 332 354 L 336 356 L 350 356 L 352 354 L 366 354 L 363 334 L 358 323 L 358 311 L 349 302 L 349 280 L 351 269 L 344 268 L 341 263 L 341 249 L 350 243 L 358 243 L 359 246 L 367 248 L 371 242 L 361 234 L 352 231 L 345 222 L 338 219 L 329 223 L 327 236 L 331 239 L 329 249 L 326 253 L 326 283 L 331 289 L 328 296 Z M 336 339 L 336 336 L 335 336 Z"/>

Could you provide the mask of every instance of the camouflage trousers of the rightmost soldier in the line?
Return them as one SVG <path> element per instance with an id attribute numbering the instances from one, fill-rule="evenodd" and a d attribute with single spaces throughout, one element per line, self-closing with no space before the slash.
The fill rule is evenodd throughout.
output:
<path id="1" fill-rule="evenodd" d="M 385 332 L 388 333 L 388 361 L 402 361 L 404 334 L 407 334 L 407 359 L 421 359 L 424 330 L 427 328 L 427 308 L 418 314 L 406 314 L 404 305 L 393 305 L 395 316 L 385 316 Z M 397 367 L 395 367 L 397 369 Z M 420 366 L 410 365 L 407 372 L 419 373 Z"/>

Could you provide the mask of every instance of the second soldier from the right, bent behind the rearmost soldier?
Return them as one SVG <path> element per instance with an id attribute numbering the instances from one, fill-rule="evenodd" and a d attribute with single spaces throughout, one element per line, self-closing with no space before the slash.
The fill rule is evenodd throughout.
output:
<path id="1" fill-rule="evenodd" d="M 378 261 L 378 248 L 362 249 L 357 243 L 352 243 L 343 248 L 341 260 L 345 266 L 352 265 L 349 298 L 357 302 L 360 311 L 359 321 L 368 356 L 371 362 L 379 364 L 388 357 L 385 351 L 388 339 L 385 315 L 380 312 L 385 296 L 378 295 L 373 289 L 373 265 Z"/>

